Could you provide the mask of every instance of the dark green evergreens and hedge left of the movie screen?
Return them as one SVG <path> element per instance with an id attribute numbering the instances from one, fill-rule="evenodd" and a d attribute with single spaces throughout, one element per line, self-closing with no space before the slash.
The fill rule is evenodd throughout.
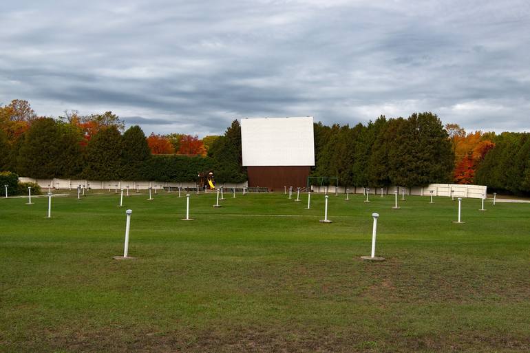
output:
<path id="1" fill-rule="evenodd" d="M 190 182 L 199 172 L 215 171 L 218 182 L 246 180 L 237 120 L 215 140 L 205 158 L 151 155 L 138 126 L 122 134 L 118 126 L 109 125 L 86 142 L 75 125 L 53 118 L 34 120 L 13 145 L 0 130 L 0 151 L 1 170 L 38 179 Z"/>

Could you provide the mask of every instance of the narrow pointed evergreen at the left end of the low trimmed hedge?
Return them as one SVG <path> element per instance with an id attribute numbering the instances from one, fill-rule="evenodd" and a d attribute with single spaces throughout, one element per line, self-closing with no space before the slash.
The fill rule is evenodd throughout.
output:
<path id="1" fill-rule="evenodd" d="M 129 127 L 122 137 L 120 173 L 125 180 L 142 180 L 145 178 L 146 164 L 151 158 L 151 150 L 145 134 L 138 125 Z"/>

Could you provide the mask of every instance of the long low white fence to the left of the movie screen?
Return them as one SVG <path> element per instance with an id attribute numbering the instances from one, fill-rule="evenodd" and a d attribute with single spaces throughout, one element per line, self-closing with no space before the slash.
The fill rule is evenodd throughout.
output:
<path id="1" fill-rule="evenodd" d="M 139 189 L 139 190 L 147 190 L 150 187 L 153 189 L 162 189 L 167 188 L 170 186 L 171 188 L 189 188 L 194 189 L 197 187 L 197 183 L 195 182 L 149 182 L 149 181 L 140 181 L 140 182 L 131 182 L 131 181 L 124 181 L 124 180 L 114 180 L 114 181 L 107 181 L 107 182 L 101 182 L 96 180 L 70 180 L 70 179 L 33 179 L 33 178 L 19 178 L 21 182 L 34 182 L 36 184 L 39 184 L 42 189 L 47 189 L 48 187 L 50 189 L 76 189 L 78 186 L 84 186 L 85 188 L 90 188 L 92 190 L 114 190 L 114 189 L 127 189 L 127 186 L 129 186 L 129 189 Z M 218 183 L 217 186 L 223 186 L 225 189 L 241 189 L 243 186 L 247 187 L 248 183 L 229 183 L 226 182 L 224 184 Z"/>

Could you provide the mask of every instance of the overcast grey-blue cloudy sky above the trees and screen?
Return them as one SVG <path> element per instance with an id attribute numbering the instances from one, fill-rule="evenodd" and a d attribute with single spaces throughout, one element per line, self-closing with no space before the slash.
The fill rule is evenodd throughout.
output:
<path id="1" fill-rule="evenodd" d="M 528 0 L 7 0 L 0 43 L 3 105 L 111 110 L 146 134 L 414 111 L 530 131 Z"/>

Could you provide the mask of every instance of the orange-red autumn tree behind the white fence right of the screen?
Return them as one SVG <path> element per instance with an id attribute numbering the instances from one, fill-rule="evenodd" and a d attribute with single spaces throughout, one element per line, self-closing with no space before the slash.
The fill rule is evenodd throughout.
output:
<path id="1" fill-rule="evenodd" d="M 454 151 L 454 181 L 456 184 L 473 184 L 476 169 L 486 153 L 495 147 L 494 142 L 488 140 L 488 135 L 482 131 L 465 133 L 458 124 L 447 124 L 445 129 L 449 132 Z"/>

